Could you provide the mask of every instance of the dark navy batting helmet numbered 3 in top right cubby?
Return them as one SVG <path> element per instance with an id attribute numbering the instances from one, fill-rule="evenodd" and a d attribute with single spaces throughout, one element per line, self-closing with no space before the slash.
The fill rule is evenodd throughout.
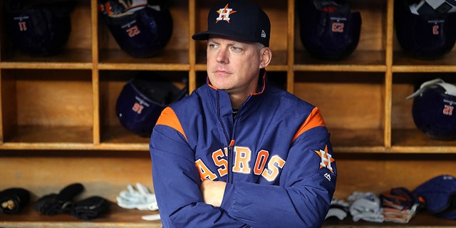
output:
<path id="1" fill-rule="evenodd" d="M 404 51 L 414 58 L 435 59 L 452 50 L 456 41 L 456 1 L 394 2 L 396 37 Z"/>

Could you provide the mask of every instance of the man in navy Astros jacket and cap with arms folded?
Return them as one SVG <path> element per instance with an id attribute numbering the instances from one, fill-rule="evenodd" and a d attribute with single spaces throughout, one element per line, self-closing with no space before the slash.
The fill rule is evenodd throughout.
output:
<path id="1" fill-rule="evenodd" d="M 268 16 L 209 11 L 207 84 L 165 108 L 150 155 L 163 227 L 321 227 L 336 162 L 320 111 L 268 85 Z"/>

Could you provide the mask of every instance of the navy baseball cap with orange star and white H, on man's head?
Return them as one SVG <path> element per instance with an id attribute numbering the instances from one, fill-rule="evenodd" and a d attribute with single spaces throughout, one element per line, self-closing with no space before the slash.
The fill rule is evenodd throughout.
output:
<path id="1" fill-rule="evenodd" d="M 212 7 L 207 16 L 207 31 L 195 33 L 192 38 L 204 41 L 209 35 L 219 35 L 269 47 L 270 32 L 269 17 L 259 6 L 249 1 L 227 1 Z"/>

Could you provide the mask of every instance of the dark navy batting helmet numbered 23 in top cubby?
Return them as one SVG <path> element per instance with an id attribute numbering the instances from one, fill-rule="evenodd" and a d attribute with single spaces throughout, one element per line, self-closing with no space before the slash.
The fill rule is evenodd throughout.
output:
<path id="1" fill-rule="evenodd" d="M 356 49 L 361 14 L 344 1 L 298 1 L 301 42 L 312 56 L 323 60 L 344 58 Z"/>

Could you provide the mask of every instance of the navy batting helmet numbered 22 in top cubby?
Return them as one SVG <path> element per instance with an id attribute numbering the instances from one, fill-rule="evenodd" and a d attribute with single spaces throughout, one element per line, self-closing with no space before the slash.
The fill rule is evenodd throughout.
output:
<path id="1" fill-rule="evenodd" d="M 108 0 L 100 11 L 120 48 L 135 58 L 147 58 L 161 51 L 172 35 L 172 16 L 157 1 Z"/>

